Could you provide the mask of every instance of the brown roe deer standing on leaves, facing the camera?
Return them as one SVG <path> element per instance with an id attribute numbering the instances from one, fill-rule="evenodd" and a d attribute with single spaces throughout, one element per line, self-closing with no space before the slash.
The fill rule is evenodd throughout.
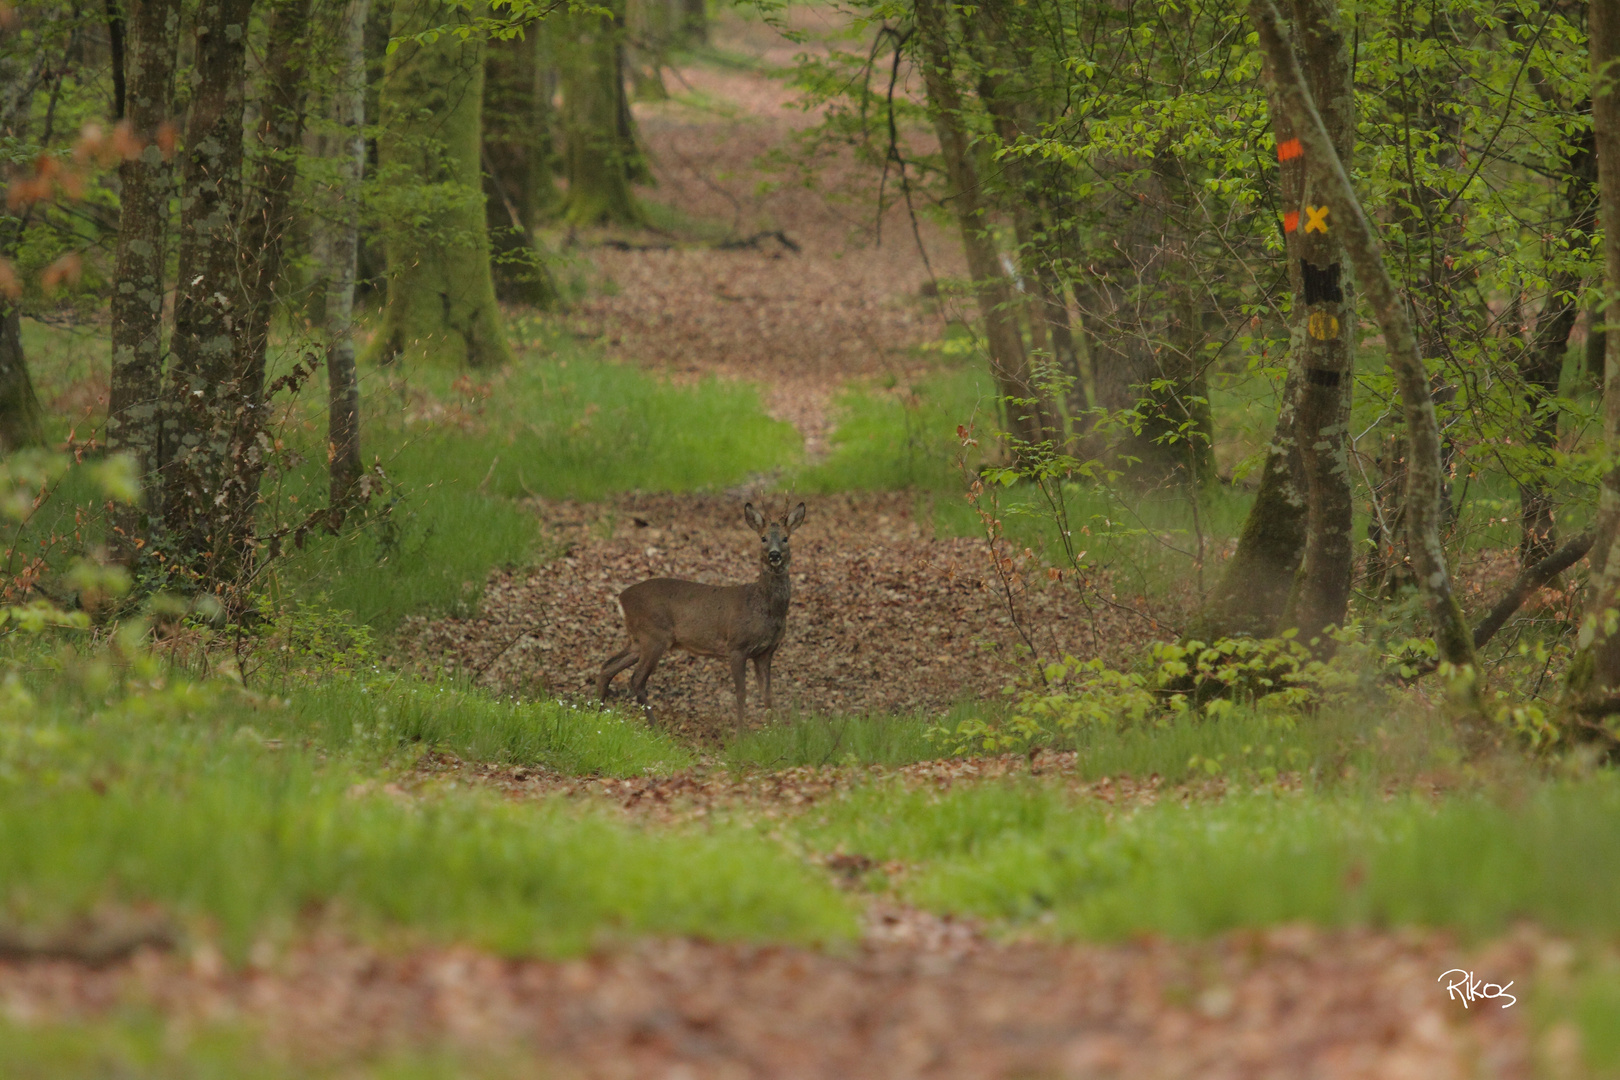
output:
<path id="1" fill-rule="evenodd" d="M 792 585 L 787 562 L 792 552 L 787 538 L 805 520 L 805 504 L 794 507 L 781 521 L 747 504 L 742 508 L 748 528 L 760 534 L 760 580 L 748 585 L 700 585 L 677 578 L 653 578 L 632 585 L 619 594 L 624 628 L 630 646 L 603 664 L 596 675 L 596 695 L 608 699 L 608 683 L 635 664 L 630 691 L 646 704 L 646 680 L 669 649 L 685 649 L 693 656 L 724 656 L 731 661 L 731 680 L 737 691 L 737 722 L 742 724 L 748 701 L 747 664 L 753 661 L 753 677 L 760 682 L 765 708 L 771 708 L 771 657 L 787 630 L 787 601 Z"/>

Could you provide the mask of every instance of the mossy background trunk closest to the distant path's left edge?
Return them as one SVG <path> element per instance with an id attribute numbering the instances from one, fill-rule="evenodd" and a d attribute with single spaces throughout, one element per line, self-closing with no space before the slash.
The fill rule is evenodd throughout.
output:
<path id="1" fill-rule="evenodd" d="M 630 100 L 624 91 L 624 42 L 617 18 L 570 15 L 559 50 L 562 138 L 572 225 L 640 225 L 630 185 L 646 176 Z"/>

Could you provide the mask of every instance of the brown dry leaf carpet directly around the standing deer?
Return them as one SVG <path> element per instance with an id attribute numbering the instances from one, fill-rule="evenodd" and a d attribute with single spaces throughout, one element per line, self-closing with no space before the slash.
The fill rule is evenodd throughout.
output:
<path id="1" fill-rule="evenodd" d="M 807 502 L 792 541 L 787 638 L 773 669 L 778 709 L 941 712 L 1011 680 L 1021 636 L 983 539 L 933 538 L 909 494 Z M 624 646 L 620 591 L 653 576 L 721 585 L 758 575 L 742 504 L 735 495 L 541 504 L 567 554 L 496 573 L 478 617 L 410 623 L 402 648 L 418 664 L 480 672 L 502 690 L 593 696 L 601 662 Z M 1024 580 L 1014 602 L 1045 656 L 1123 659 L 1160 635 L 1152 614 L 1108 607 L 1045 576 Z M 627 685 L 620 675 L 616 691 Z M 674 730 L 710 733 L 732 722 L 721 661 L 671 654 L 648 687 L 656 722 Z M 758 701 L 750 709 L 758 716 Z"/>

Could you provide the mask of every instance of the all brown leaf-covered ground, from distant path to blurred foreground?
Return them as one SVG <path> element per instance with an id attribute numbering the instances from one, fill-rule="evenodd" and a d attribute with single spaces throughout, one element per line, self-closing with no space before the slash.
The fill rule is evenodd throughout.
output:
<path id="1" fill-rule="evenodd" d="M 766 73 L 804 47 L 735 16 L 718 23 L 714 47 L 747 63 L 680 66 L 666 73 L 672 100 L 637 105 L 658 175 L 650 198 L 711 235 L 578 236 L 595 288 L 570 327 L 614 359 L 676 379 L 760 385 L 766 408 L 818 457 L 846 387 L 881 390 L 927 372 L 919 347 L 938 340 L 944 316 L 925 285 L 959 272 L 959 248 L 927 217 L 914 235 L 904 206 L 885 214 L 878 244 L 870 176 L 847 152 L 815 159 L 815 186 L 800 183 L 800 165 L 765 167 L 782 162 L 778 152 L 799 144 L 812 120 L 792 87 Z M 761 479 L 723 494 L 536 499 L 530 505 L 557 555 L 496 572 L 471 617 L 408 622 L 403 656 L 502 691 L 586 698 L 596 667 L 620 644 L 616 594 L 658 575 L 753 576 L 740 504 L 753 497 L 779 512 L 782 495 L 770 491 Z M 776 664 L 786 712 L 938 716 L 1000 695 L 1011 675 L 1003 657 L 1024 633 L 1055 635 L 1043 649 L 1124 659 L 1174 619 L 1163 601 L 1123 591 L 1085 604 L 1043 573 L 1021 578 L 1009 607 L 983 541 L 935 536 L 915 494 L 808 502 Z M 1492 573 L 1507 570 L 1492 563 Z M 651 682 L 653 722 L 713 750 L 732 722 L 727 682 L 714 661 L 667 657 Z M 757 708 L 752 722 L 765 724 Z M 1040 772 L 1110 810 L 1160 798 L 1194 805 L 1225 790 L 1212 782 L 1166 792 L 1157 776 L 1082 784 L 1064 780 L 1068 769 L 1072 759 L 1019 756 L 897 774 L 943 790 Z M 562 793 L 586 813 L 650 829 L 701 827 L 739 808 L 789 816 L 859 779 L 849 767 L 734 772 L 713 759 L 619 780 L 426 758 L 418 766 L 434 771 L 512 800 Z M 863 860 L 838 853 L 821 865 L 859 891 Z M 1464 968 L 1526 986 L 1568 952 L 1531 928 L 1471 944 L 1437 931 L 1304 925 L 1207 941 L 1059 944 L 860 895 L 863 933 L 842 950 L 650 939 L 549 962 L 416 942 L 381 949 L 340 934 L 303 938 L 246 965 L 209 949 L 141 949 L 100 967 L 6 962 L 0 950 L 0 1015 L 73 1023 L 138 1002 L 180 1028 L 249 1023 L 279 1052 L 337 1062 L 335 1075 L 352 1075 L 342 1062 L 424 1044 L 471 1062 L 447 1075 L 533 1075 L 522 1062 L 538 1056 L 546 1075 L 659 1080 L 1440 1080 L 1578 1069 L 1568 1025 L 1536 1036 L 1523 997 L 1515 1009 L 1469 1009 L 1437 981 Z"/>

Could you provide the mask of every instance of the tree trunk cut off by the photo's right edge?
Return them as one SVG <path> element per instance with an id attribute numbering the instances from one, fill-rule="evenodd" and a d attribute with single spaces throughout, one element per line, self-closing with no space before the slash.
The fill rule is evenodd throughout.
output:
<path id="1" fill-rule="evenodd" d="M 1620 222 L 1620 0 L 1588 6 L 1588 50 L 1592 65 L 1592 136 L 1604 222 Z M 1604 230 L 1602 321 L 1620 324 L 1620 228 Z M 1620 334 L 1605 335 L 1604 440 L 1610 460 L 1620 453 Z M 1565 704 L 1614 699 L 1620 690 L 1620 468 L 1604 474 L 1592 542 L 1592 597 L 1581 622 L 1580 651 L 1570 664 Z M 1605 709 L 1607 711 L 1607 709 Z"/>

